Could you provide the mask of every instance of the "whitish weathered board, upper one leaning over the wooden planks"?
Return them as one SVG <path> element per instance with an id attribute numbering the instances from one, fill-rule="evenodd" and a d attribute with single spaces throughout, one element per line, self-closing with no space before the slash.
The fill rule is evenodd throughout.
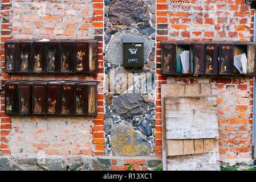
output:
<path id="1" fill-rule="evenodd" d="M 165 97 L 166 139 L 218 138 L 217 96 Z"/>

